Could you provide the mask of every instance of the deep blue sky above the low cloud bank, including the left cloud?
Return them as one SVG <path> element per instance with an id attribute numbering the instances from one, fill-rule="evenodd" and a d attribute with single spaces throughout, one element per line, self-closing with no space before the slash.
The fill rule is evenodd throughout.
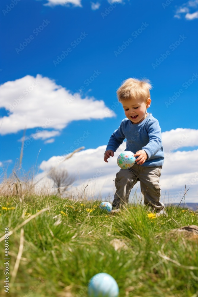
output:
<path id="1" fill-rule="evenodd" d="M 26 171 L 35 165 L 40 149 L 37 166 L 71 148 L 97 149 L 107 145 L 125 117 L 117 103 L 116 90 L 129 77 L 151 80 L 148 112 L 159 120 L 162 132 L 177 128 L 197 131 L 197 2 L 154 0 L 151 5 L 146 0 L 101 0 L 94 2 L 94 10 L 93 2 L 85 0 L 15 0 L 14 7 L 12 1 L 2 1 L 0 164 L 9 165 L 7 173 L 12 172 L 20 156 L 19 140 L 25 127 L 26 137 L 35 135 L 38 129 L 56 131 L 55 136 L 28 142 L 23 154 Z M 25 39 L 29 43 L 20 47 Z M 62 51 L 68 48 L 64 56 Z M 59 58 L 57 64 L 61 54 L 63 59 Z M 37 75 L 39 83 L 30 88 Z M 64 120 L 60 94 L 50 99 L 45 83 L 61 86 L 60 92 L 67 90 L 67 95 L 78 92 L 82 105 L 68 104 L 71 111 L 68 119 L 65 113 Z M 79 91 L 80 87 L 83 91 Z M 30 91 L 28 107 L 23 92 L 26 88 Z M 53 95 L 55 92 L 56 88 Z M 25 99 L 11 110 L 10 104 L 20 95 Z M 87 102 L 83 102 L 86 98 Z M 99 115 L 96 101 L 100 102 Z M 102 112 L 102 104 L 109 108 L 106 113 Z M 60 112 L 60 123 L 55 123 L 53 110 Z M 13 120 L 10 116 L 15 111 Z M 43 129 L 45 119 L 52 119 L 52 125 Z M 195 143 L 178 150 L 197 148 Z"/>

